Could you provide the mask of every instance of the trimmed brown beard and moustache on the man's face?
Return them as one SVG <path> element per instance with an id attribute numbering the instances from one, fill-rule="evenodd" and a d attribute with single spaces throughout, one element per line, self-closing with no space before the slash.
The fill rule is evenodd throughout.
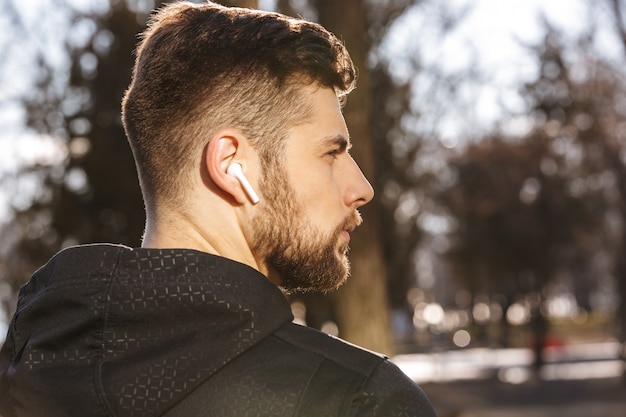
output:
<path id="1" fill-rule="evenodd" d="M 261 204 L 252 223 L 253 250 L 280 277 L 287 292 L 335 290 L 350 275 L 348 244 L 341 233 L 361 224 L 354 210 L 330 233 L 313 227 L 298 203 L 286 175 L 276 167 L 266 169 L 260 182 Z"/>

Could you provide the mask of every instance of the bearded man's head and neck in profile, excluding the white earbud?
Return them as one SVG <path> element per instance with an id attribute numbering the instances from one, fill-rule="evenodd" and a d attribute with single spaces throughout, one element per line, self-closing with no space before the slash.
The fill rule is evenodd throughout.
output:
<path id="1" fill-rule="evenodd" d="M 357 208 L 373 194 L 341 114 L 354 82 L 344 46 L 317 24 L 214 3 L 166 6 L 144 34 L 123 102 L 148 223 L 183 234 L 163 219 L 186 212 L 191 233 L 174 244 L 247 263 L 287 290 L 336 288 Z M 228 175 L 233 162 L 254 175 L 256 206 Z"/>

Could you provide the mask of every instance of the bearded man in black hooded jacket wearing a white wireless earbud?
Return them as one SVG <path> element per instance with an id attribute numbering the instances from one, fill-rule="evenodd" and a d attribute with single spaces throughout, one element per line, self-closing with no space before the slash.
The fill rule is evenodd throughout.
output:
<path id="1" fill-rule="evenodd" d="M 341 114 L 354 81 L 316 24 L 213 3 L 153 16 L 123 101 L 143 245 L 69 248 L 34 274 L 2 415 L 433 416 L 386 358 L 293 324 L 280 290 L 348 276 L 373 196 Z"/>

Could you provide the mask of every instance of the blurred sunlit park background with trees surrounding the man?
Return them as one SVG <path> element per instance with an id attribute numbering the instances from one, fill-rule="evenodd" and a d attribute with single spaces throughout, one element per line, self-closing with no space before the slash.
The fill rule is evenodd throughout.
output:
<path id="1" fill-rule="evenodd" d="M 377 191 L 296 320 L 384 352 L 440 417 L 626 410 L 626 1 L 249 0 L 359 68 Z M 151 0 L 0 0 L 0 343 L 58 250 L 140 245 L 120 100 Z"/>

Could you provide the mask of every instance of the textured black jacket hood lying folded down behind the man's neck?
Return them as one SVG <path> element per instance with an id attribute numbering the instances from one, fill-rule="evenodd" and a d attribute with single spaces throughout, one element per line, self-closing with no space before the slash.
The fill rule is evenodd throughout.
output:
<path id="1" fill-rule="evenodd" d="M 292 319 L 276 286 L 225 258 L 69 248 L 20 291 L 0 355 L 0 404 L 13 408 L 0 413 L 160 415 Z"/>

